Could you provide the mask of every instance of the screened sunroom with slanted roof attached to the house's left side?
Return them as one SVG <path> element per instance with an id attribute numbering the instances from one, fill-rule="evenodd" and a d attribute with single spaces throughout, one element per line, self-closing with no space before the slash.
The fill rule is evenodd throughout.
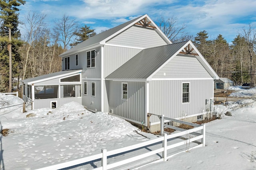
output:
<path id="1" fill-rule="evenodd" d="M 32 109 L 56 108 L 68 102 L 82 104 L 82 70 L 66 70 L 22 80 L 23 100 Z"/>

